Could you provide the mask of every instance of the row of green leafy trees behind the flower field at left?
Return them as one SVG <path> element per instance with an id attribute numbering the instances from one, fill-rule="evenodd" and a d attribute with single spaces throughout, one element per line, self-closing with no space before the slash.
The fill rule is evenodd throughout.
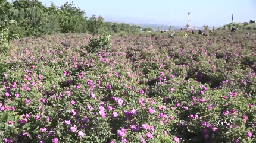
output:
<path id="1" fill-rule="evenodd" d="M 104 17 L 92 15 L 77 8 L 73 2 L 65 2 L 57 7 L 53 2 L 46 7 L 38 0 L 16 0 L 8 2 L 0 0 L 0 25 L 5 21 L 15 20 L 17 23 L 8 26 L 10 34 L 19 37 L 42 36 L 55 33 L 137 33 L 141 27 L 126 23 L 112 23 Z M 145 31 L 152 31 L 145 28 Z"/>

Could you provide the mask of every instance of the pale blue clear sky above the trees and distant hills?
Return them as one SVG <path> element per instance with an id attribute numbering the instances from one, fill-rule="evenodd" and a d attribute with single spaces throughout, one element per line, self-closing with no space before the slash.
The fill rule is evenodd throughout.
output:
<path id="1" fill-rule="evenodd" d="M 41 0 L 49 6 L 51 0 Z M 67 0 L 52 0 L 57 6 Z M 68 1 L 72 2 L 72 1 Z M 191 12 L 191 26 L 223 26 L 230 23 L 232 13 L 234 22 L 256 20 L 256 0 L 73 0 L 76 7 L 86 15 L 102 15 L 107 21 L 124 23 L 150 23 L 185 26 L 188 12 Z M 232 4 L 231 4 L 232 3 Z"/>

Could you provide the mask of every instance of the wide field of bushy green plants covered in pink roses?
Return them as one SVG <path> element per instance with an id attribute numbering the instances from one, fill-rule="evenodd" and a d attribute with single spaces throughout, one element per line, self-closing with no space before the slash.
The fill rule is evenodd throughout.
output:
<path id="1" fill-rule="evenodd" d="M 168 34 L 13 40 L 0 141 L 256 142 L 256 36 Z"/>

